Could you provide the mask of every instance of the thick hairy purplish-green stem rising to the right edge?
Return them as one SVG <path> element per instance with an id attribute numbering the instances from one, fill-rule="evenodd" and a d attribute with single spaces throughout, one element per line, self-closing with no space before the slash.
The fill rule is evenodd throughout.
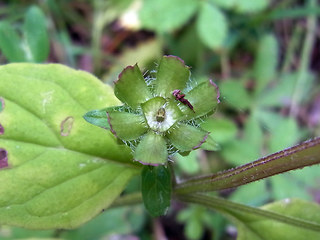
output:
<path id="1" fill-rule="evenodd" d="M 271 154 L 225 172 L 186 180 L 175 187 L 177 194 L 238 187 L 279 173 L 320 163 L 320 137 Z"/>

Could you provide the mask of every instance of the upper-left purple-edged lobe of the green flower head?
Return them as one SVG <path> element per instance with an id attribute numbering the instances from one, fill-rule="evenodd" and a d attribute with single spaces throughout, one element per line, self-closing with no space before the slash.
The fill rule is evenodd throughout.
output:
<path id="1" fill-rule="evenodd" d="M 115 82 L 114 94 L 132 108 L 152 97 L 138 65 L 126 67 Z"/>

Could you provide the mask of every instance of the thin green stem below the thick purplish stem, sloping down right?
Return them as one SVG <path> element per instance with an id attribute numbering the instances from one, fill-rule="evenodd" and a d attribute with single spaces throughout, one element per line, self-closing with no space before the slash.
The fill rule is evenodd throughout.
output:
<path id="1" fill-rule="evenodd" d="M 207 208 L 214 209 L 218 212 L 221 212 L 229 216 L 231 215 L 236 218 L 239 213 L 252 214 L 254 216 L 273 219 L 275 221 L 286 223 L 292 226 L 305 228 L 313 231 L 320 231 L 319 224 L 301 220 L 291 216 L 281 215 L 281 214 L 263 210 L 260 208 L 249 207 L 246 205 L 231 202 L 226 199 L 222 199 L 218 197 L 205 196 L 202 194 L 192 194 L 192 195 L 178 195 L 177 198 L 183 202 L 200 204 Z M 241 221 L 241 219 L 238 219 L 238 220 Z"/>

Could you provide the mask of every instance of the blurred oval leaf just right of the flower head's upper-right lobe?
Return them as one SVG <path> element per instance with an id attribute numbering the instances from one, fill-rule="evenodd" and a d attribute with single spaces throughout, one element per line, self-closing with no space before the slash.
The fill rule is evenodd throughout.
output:
<path id="1" fill-rule="evenodd" d="M 238 80 L 223 81 L 219 84 L 221 95 L 232 107 L 245 110 L 253 104 L 253 99 L 248 94 L 244 83 Z"/>

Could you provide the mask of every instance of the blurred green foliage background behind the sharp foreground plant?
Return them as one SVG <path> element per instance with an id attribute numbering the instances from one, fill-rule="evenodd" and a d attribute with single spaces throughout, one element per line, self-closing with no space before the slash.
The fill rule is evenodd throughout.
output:
<path id="1" fill-rule="evenodd" d="M 61 63 L 112 84 L 127 65 L 155 69 L 164 54 L 213 79 L 217 113 L 202 127 L 221 145 L 175 156 L 179 179 L 248 163 L 320 135 L 320 27 L 316 0 L 39 0 L 0 2 L 0 64 Z M 213 193 L 260 206 L 320 203 L 320 167 Z M 139 178 L 126 192 L 140 188 Z M 236 239 L 236 228 L 198 206 L 168 215 L 114 208 L 75 230 L 0 226 L 0 239 Z M 164 238 L 163 238 L 164 239 Z"/>

